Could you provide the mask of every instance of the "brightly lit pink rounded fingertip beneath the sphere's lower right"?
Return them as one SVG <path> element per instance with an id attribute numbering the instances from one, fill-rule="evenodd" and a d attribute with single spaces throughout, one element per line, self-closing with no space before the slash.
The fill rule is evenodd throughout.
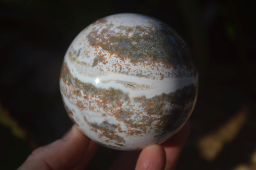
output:
<path id="1" fill-rule="evenodd" d="M 161 145 L 154 144 L 142 150 L 135 170 L 164 170 L 165 167 L 165 150 Z"/>

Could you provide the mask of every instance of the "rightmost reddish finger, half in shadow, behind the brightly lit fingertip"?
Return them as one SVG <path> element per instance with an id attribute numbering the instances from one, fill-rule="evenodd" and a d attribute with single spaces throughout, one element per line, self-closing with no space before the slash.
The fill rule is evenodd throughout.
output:
<path id="1" fill-rule="evenodd" d="M 172 138 L 164 142 L 162 146 L 166 152 L 166 168 L 165 170 L 174 170 L 180 156 L 180 153 L 185 144 L 186 138 L 190 132 L 190 122 L 187 122 L 179 132 Z"/>

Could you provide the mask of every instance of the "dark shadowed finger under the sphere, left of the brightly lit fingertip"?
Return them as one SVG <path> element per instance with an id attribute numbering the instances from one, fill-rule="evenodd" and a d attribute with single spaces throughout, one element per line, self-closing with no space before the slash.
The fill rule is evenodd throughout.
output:
<path id="1" fill-rule="evenodd" d="M 134 170 L 140 150 L 122 152 L 111 165 L 110 170 Z"/>

